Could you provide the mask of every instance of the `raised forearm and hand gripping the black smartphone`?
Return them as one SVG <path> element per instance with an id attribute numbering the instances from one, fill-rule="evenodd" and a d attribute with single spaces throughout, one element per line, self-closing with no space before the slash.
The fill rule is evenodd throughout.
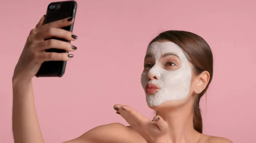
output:
<path id="1" fill-rule="evenodd" d="M 30 31 L 12 78 L 12 130 L 15 143 L 44 143 L 35 111 L 32 78 L 44 61 L 67 61 L 73 57 L 69 53 L 45 52 L 48 48 L 74 51 L 76 48 L 70 43 L 55 39 L 44 40 L 53 36 L 75 40 L 76 36 L 71 32 L 61 29 L 72 22 L 73 18 L 66 18 L 43 25 L 42 17 L 36 28 Z"/>

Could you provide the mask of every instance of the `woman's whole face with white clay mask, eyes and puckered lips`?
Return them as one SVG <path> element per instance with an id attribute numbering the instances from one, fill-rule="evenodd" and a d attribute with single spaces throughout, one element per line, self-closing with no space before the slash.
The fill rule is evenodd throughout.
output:
<path id="1" fill-rule="evenodd" d="M 183 50 L 173 42 L 153 42 L 148 46 L 141 84 L 149 107 L 165 101 L 181 100 L 190 92 L 192 72 Z"/>

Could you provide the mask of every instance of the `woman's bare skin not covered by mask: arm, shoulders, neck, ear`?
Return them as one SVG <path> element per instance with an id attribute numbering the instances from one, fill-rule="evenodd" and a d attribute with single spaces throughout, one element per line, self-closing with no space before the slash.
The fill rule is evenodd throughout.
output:
<path id="1" fill-rule="evenodd" d="M 15 143 L 44 143 L 35 110 L 32 78 L 44 61 L 67 61 L 72 58 L 68 56 L 68 53 L 46 53 L 44 51 L 47 48 L 75 51 L 72 45 L 67 42 L 44 41 L 44 39 L 52 36 L 71 41 L 76 40 L 72 38 L 71 32 L 60 29 L 73 22 L 73 20 L 68 21 L 67 19 L 43 25 L 44 17 L 42 17 L 35 29 L 30 32 L 17 62 L 12 78 L 12 125 Z M 176 62 L 177 65 L 176 67 L 174 64 L 169 65 L 165 67 L 166 70 L 175 70 L 179 67 L 179 59 L 174 56 L 167 56 L 166 58 L 160 59 L 160 63 L 157 64 L 170 60 Z M 151 61 L 153 59 L 145 59 L 145 63 Z M 145 68 L 144 70 L 148 69 Z M 206 87 L 209 73 L 203 72 L 197 76 L 192 73 L 192 77 L 189 97 L 182 101 L 172 103 L 166 101 L 159 107 L 151 107 L 157 110 L 157 115 L 153 120 L 146 118 L 131 107 L 116 104 L 113 112 L 118 113 L 131 126 L 124 126 L 120 123 L 97 126 L 80 137 L 64 143 L 232 143 L 222 137 L 203 135 L 193 128 L 192 105 L 198 94 L 198 91 L 194 89 Z M 148 74 L 148 78 L 156 79 L 157 77 Z"/>

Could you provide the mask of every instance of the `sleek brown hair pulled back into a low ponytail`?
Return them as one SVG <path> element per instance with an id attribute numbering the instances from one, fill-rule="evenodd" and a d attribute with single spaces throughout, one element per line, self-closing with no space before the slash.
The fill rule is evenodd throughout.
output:
<path id="1" fill-rule="evenodd" d="M 197 34 L 187 31 L 165 31 L 155 37 L 149 44 L 157 40 L 168 40 L 177 44 L 185 52 L 189 62 L 194 66 L 194 72 L 200 74 L 203 71 L 208 71 L 210 74 L 207 87 L 198 94 L 194 103 L 193 126 L 197 132 L 203 132 L 203 122 L 201 110 L 199 107 L 200 98 L 204 95 L 210 82 L 212 81 L 213 73 L 213 57 L 212 51 L 207 42 Z"/>

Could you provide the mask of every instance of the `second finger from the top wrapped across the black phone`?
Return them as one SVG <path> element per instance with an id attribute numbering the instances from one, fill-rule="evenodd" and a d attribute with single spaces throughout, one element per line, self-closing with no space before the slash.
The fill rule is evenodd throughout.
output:
<path id="1" fill-rule="evenodd" d="M 47 30 L 40 31 L 35 34 L 35 38 L 38 40 L 49 39 L 52 37 L 58 37 L 62 39 L 66 39 L 67 41 L 76 40 L 78 37 L 73 35 L 72 32 L 61 29 L 61 28 L 47 28 Z"/>

